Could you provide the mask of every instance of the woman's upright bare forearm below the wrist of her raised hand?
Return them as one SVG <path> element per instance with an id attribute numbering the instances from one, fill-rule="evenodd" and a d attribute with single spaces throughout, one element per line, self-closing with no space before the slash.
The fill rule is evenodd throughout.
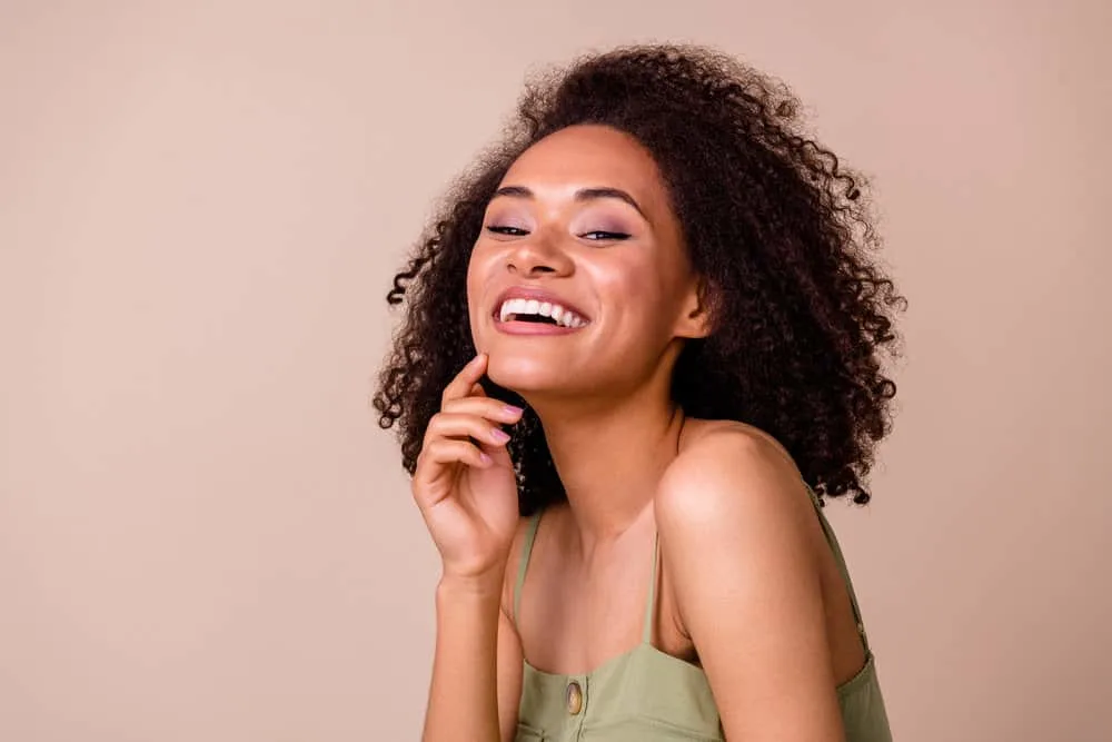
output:
<path id="1" fill-rule="evenodd" d="M 424 742 L 496 742 L 502 575 L 441 578 Z"/>

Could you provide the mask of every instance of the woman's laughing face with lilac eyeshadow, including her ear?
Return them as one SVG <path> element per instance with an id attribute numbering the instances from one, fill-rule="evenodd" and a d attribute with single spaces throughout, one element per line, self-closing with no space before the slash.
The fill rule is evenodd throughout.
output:
<path id="1" fill-rule="evenodd" d="M 633 137 L 563 129 L 510 167 L 467 274 L 490 379 L 533 395 L 632 393 L 705 334 L 661 174 Z"/>

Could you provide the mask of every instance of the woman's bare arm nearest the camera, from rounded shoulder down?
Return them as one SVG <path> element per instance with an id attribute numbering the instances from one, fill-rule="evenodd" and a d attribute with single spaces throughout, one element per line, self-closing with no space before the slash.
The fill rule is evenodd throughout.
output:
<path id="1" fill-rule="evenodd" d="M 727 739 L 844 739 L 814 513 L 794 465 L 737 431 L 669 467 L 656 501 L 681 620 Z"/>

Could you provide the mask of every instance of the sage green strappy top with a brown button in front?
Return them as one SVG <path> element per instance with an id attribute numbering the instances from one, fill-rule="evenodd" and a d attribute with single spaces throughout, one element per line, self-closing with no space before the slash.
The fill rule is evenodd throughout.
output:
<path id="1" fill-rule="evenodd" d="M 808 487 L 808 492 L 811 492 Z M 891 742 L 884 699 L 868 649 L 857 597 L 837 538 L 811 492 L 826 542 L 837 561 L 865 647 L 865 664 L 837 687 L 846 742 Z M 533 553 L 540 513 L 528 524 L 514 587 L 514 621 Z M 701 667 L 662 652 L 652 643 L 656 602 L 658 540 L 653 546 L 653 582 L 645 605 L 641 643 L 590 672 L 543 672 L 526 661 L 518 708 L 517 742 L 664 742 L 725 740 L 711 684 Z"/>

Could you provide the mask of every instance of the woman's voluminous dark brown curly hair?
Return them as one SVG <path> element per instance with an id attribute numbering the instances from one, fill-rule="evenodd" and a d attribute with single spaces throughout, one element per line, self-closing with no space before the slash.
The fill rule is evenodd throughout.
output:
<path id="1" fill-rule="evenodd" d="M 713 332 L 686 344 L 672 394 L 685 414 L 753 425 L 788 451 L 820 495 L 867 503 L 863 481 L 891 429 L 905 305 L 873 259 L 863 179 L 801 130 L 781 82 L 717 51 L 638 46 L 584 57 L 526 86 L 500 144 L 455 184 L 387 295 L 404 321 L 374 396 L 413 474 L 440 394 L 475 355 L 467 266 L 487 202 L 532 145 L 575 125 L 631 135 L 665 180 Z M 536 414 L 509 444 L 523 514 L 565 497 Z"/>

